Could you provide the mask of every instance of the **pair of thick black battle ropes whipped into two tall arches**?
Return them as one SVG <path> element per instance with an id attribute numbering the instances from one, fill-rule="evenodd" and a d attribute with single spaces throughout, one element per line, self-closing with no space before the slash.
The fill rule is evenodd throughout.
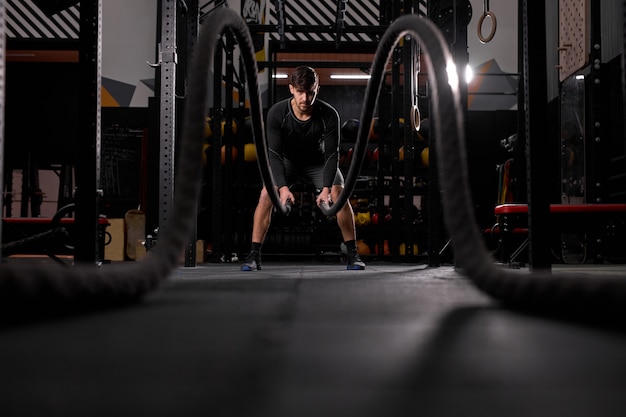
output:
<path id="1" fill-rule="evenodd" d="M 189 73 L 189 96 L 181 137 L 179 171 L 175 182 L 175 198 L 171 218 L 163 228 L 159 244 L 139 262 L 110 265 L 106 268 L 78 265 L 58 270 L 34 265 L 18 268 L 11 264 L 0 268 L 0 305 L 56 307 L 110 306 L 131 302 L 156 288 L 177 265 L 179 255 L 193 230 L 193 213 L 198 201 L 202 172 L 201 144 L 208 103 L 208 69 L 213 61 L 215 44 L 229 29 L 239 43 L 250 88 L 252 128 L 259 158 L 259 169 L 268 188 L 274 188 L 268 168 L 264 124 L 261 112 L 257 65 L 252 40 L 243 19 L 223 8 L 212 13 L 194 51 Z M 405 35 L 421 40 L 429 56 L 429 74 L 433 75 L 433 120 L 435 122 L 439 174 L 443 188 L 444 218 L 454 247 L 456 261 L 468 278 L 485 293 L 503 303 L 529 309 L 561 313 L 603 314 L 620 317 L 626 310 L 626 279 L 617 276 L 585 274 L 516 273 L 499 268 L 487 251 L 474 221 L 473 205 L 467 182 L 463 112 L 459 99 L 458 80 L 445 76 L 443 69 L 453 63 L 448 45 L 439 29 L 428 19 L 407 15 L 394 21 L 383 35 L 372 65 L 372 78 L 366 88 L 361 124 L 355 149 L 356 162 L 350 166 L 345 199 L 354 189 L 367 145 L 374 106 L 382 86 L 384 66 L 394 46 Z M 274 204 L 281 207 L 277 193 L 270 193 Z M 277 204 L 278 203 L 278 204 Z M 341 207 L 337 201 L 335 206 Z M 333 206 L 333 207 L 335 207 Z"/>

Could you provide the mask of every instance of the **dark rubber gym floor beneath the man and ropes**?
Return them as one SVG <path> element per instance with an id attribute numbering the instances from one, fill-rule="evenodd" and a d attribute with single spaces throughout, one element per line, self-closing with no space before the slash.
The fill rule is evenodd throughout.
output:
<path id="1" fill-rule="evenodd" d="M 3 417 L 626 415 L 621 326 L 508 310 L 452 265 L 201 264 L 45 313 L 3 313 Z"/>

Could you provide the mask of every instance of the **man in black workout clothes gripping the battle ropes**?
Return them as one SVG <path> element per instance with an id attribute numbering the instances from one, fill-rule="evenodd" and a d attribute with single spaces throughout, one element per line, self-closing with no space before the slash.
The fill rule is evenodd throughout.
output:
<path id="1" fill-rule="evenodd" d="M 338 199 L 344 179 L 339 162 L 339 114 L 330 104 L 316 100 L 319 77 L 315 70 L 300 66 L 291 74 L 292 97 L 274 104 L 267 114 L 269 163 L 280 201 L 293 202 L 290 187 L 300 178 L 315 186 L 316 204 Z M 242 271 L 261 269 L 261 246 L 272 218 L 272 201 L 265 187 L 254 211 L 252 246 Z M 347 247 L 347 269 L 365 269 L 356 250 L 354 212 L 347 202 L 337 212 L 337 224 Z"/>

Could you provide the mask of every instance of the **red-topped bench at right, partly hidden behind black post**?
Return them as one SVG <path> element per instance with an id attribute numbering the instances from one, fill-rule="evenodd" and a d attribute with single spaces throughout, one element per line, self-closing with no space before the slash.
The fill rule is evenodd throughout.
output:
<path id="1" fill-rule="evenodd" d="M 494 213 L 500 239 L 499 260 L 516 262 L 528 246 L 528 204 L 501 204 Z M 575 236 L 579 236 L 580 248 L 585 251 L 579 262 L 599 263 L 607 253 L 611 258 L 616 254 L 626 259 L 626 204 L 551 204 L 550 225 L 556 259 L 567 261 L 564 235 L 569 235 L 574 244 Z"/>

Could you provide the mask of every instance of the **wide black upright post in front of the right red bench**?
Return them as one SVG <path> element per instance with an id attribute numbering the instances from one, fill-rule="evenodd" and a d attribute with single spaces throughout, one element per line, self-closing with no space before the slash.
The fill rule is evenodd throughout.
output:
<path id="1" fill-rule="evenodd" d="M 546 189 L 546 167 L 553 164 L 546 152 L 548 125 L 545 2 L 523 0 L 524 49 L 523 88 L 528 190 L 528 258 L 531 269 L 551 268 L 550 199 Z M 531 53 L 532 51 L 532 53 Z"/>

